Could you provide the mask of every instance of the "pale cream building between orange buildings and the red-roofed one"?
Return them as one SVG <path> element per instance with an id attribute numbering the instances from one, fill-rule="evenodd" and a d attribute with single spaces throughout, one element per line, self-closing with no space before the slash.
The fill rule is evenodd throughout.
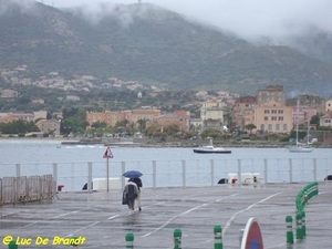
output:
<path id="1" fill-rule="evenodd" d="M 214 128 L 224 131 L 224 126 L 228 125 L 225 122 L 227 115 L 226 104 L 216 97 L 204 102 L 200 107 L 201 129 Z"/>

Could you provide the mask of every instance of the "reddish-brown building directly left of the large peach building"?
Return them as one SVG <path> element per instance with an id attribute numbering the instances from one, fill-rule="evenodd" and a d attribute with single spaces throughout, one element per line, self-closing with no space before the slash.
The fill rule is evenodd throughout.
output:
<path id="1" fill-rule="evenodd" d="M 231 129 L 245 131 L 247 124 L 255 124 L 256 96 L 241 96 L 231 106 Z"/>

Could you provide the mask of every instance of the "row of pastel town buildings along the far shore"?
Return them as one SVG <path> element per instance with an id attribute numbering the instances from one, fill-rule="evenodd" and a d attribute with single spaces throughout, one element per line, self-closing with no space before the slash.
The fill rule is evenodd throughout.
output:
<path id="1" fill-rule="evenodd" d="M 15 91 L 1 90 L 0 96 L 11 98 L 18 95 Z M 332 98 L 324 100 L 314 94 L 304 94 L 287 100 L 281 85 L 257 90 L 256 96 L 239 96 L 225 91 L 218 92 L 217 97 L 209 96 L 206 91 L 197 92 L 196 96 L 201 100 L 199 117 L 191 117 L 190 112 L 185 108 L 162 113 L 160 110 L 151 106 L 121 112 L 86 111 L 86 128 L 91 128 L 95 123 L 105 123 L 107 127 L 114 127 L 123 121 L 128 125 L 136 126 L 136 129 L 139 122 L 144 122 L 145 128 L 156 125 L 160 127 L 162 133 L 165 127 L 175 125 L 179 132 L 190 131 L 195 132 L 197 136 L 206 129 L 216 129 L 222 133 L 289 134 L 294 129 L 295 124 L 310 131 L 315 131 L 317 126 L 331 128 Z M 319 124 L 311 122 L 314 116 L 319 116 Z M 46 111 L 0 113 L 0 124 L 18 120 L 33 121 L 40 129 L 40 133 L 34 134 L 61 136 L 61 131 L 68 128 L 61 127 L 62 113 L 53 113 L 52 117 L 48 118 Z M 1 135 L 4 136 L 4 134 Z M 25 134 L 25 136 L 29 135 L 31 134 Z"/>

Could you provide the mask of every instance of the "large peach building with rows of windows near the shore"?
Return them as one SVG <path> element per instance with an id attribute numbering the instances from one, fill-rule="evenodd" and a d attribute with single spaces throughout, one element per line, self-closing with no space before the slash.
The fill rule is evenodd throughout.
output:
<path id="1" fill-rule="evenodd" d="M 270 101 L 257 104 L 255 125 L 261 133 L 289 133 L 293 128 L 293 108 L 282 103 Z"/>

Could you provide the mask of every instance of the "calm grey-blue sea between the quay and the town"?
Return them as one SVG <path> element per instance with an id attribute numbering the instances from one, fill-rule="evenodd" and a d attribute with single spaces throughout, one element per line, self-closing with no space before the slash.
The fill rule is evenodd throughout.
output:
<path id="1" fill-rule="evenodd" d="M 153 162 L 156 162 L 157 165 L 156 174 L 160 175 L 156 180 L 165 183 L 160 186 L 181 185 L 179 181 L 183 181 L 184 162 L 186 175 L 189 175 L 186 185 L 197 183 L 209 185 L 211 180 L 216 184 L 218 179 L 227 177 L 229 173 L 237 173 L 239 160 L 242 172 L 263 174 L 263 159 L 267 159 L 269 170 L 274 170 L 271 174 L 272 177 L 269 176 L 269 180 L 272 181 L 288 180 L 287 172 L 289 172 L 290 159 L 294 167 L 293 170 L 299 170 L 302 179 L 311 178 L 313 160 L 321 169 L 318 177 L 330 174 L 330 169 L 332 169 L 331 148 L 317 148 L 312 153 L 289 153 L 287 148 L 231 148 L 231 154 L 225 155 L 201 155 L 193 153 L 193 148 L 114 147 L 112 148 L 114 158 L 110 159 L 110 177 L 121 176 L 123 167 L 125 170 L 138 169 L 144 172 L 146 186 L 152 186 Z M 17 176 L 17 164 L 21 165 L 21 176 L 52 174 L 52 164 L 56 163 L 59 178 L 63 178 L 63 181 L 66 183 L 70 181 L 71 188 L 77 188 L 86 183 L 87 163 L 92 163 L 94 166 L 93 177 L 106 176 L 107 164 L 103 158 L 104 152 L 103 145 L 61 145 L 60 141 L 49 139 L 0 139 L 0 178 Z M 124 163 L 125 166 L 123 166 Z M 211 164 L 215 168 L 212 176 Z"/>

